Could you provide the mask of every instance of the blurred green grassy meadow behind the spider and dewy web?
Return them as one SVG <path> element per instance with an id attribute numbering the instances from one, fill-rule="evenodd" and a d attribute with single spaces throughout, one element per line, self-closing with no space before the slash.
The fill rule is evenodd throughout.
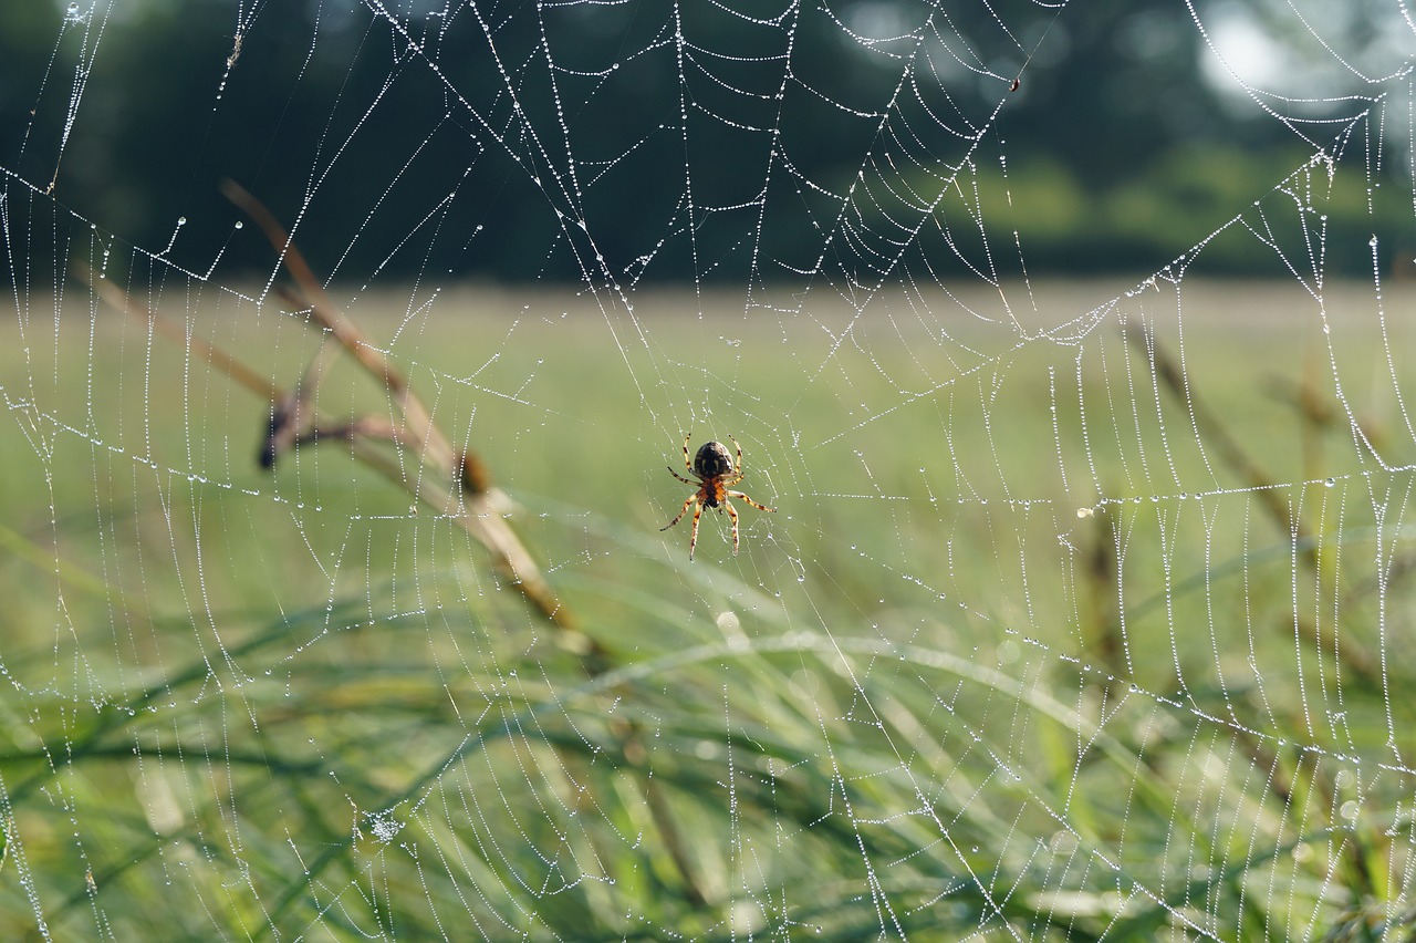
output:
<path id="1" fill-rule="evenodd" d="M 1154 292 L 1044 336 L 1114 293 L 1012 293 L 1017 327 L 997 296 L 358 299 L 593 658 L 340 446 L 262 473 L 246 391 L 35 304 L 0 347 L 0 936 L 1379 935 L 1410 903 L 1410 474 L 1354 445 L 1325 345 L 1409 464 L 1371 302 L 1334 289 L 1324 336 L 1296 287 L 1195 285 L 1178 327 Z M 188 303 L 276 382 L 313 355 Z M 388 411 L 346 367 L 320 406 Z M 777 507 L 736 559 L 715 514 L 692 564 L 658 530 L 690 429 Z"/>

